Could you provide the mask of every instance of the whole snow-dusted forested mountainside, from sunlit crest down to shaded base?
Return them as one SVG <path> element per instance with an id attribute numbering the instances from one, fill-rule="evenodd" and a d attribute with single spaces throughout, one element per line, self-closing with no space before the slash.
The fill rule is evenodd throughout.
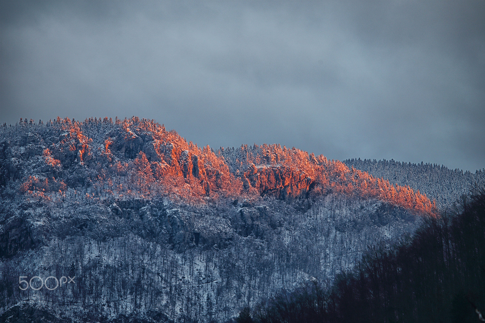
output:
<path id="1" fill-rule="evenodd" d="M 330 286 L 484 182 L 280 145 L 214 150 L 138 117 L 4 124 L 0 317 L 230 321 L 282 288 Z"/>

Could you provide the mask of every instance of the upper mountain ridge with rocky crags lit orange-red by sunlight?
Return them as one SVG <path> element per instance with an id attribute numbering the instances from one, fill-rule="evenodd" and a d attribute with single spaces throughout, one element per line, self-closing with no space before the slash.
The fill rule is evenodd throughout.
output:
<path id="1" fill-rule="evenodd" d="M 85 187 L 88 197 L 137 191 L 149 198 L 156 191 L 194 203 L 202 202 L 204 196 L 241 193 L 274 194 L 286 200 L 308 197 L 310 193 L 339 193 L 377 198 L 415 212 L 436 213 L 434 202 L 409 186 L 374 178 L 340 161 L 329 161 L 323 155 L 294 147 L 241 145 L 238 149 L 221 147 L 214 151 L 208 145 L 200 148 L 187 143 L 175 130 L 166 131 L 163 125 L 138 117 L 122 121 L 116 118 L 114 122 L 107 117 L 83 122 L 58 117 L 46 125 L 26 121 L 0 129 L 3 136 L 19 136 L 27 131 L 25 138 L 17 138 L 16 143 L 2 141 L 0 182 L 5 185 L 16 181 L 22 174 L 22 159 L 37 159 L 33 168 L 36 174 L 23 176 L 18 188 L 34 198 L 59 198 L 57 195 L 62 195 L 67 186 Z M 17 155 L 11 149 L 16 145 Z M 72 169 L 76 169 L 77 178 L 70 176 Z M 119 184 L 113 185 L 113 180 Z M 88 192 L 87 187 L 94 190 Z"/>

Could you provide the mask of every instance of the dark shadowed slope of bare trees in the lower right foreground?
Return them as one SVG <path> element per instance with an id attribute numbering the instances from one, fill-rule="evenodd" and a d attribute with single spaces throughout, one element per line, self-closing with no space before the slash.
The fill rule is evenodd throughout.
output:
<path id="1" fill-rule="evenodd" d="M 245 308 L 238 322 L 484 321 L 485 190 L 412 239 L 372 246 L 326 287 L 318 281 Z"/>

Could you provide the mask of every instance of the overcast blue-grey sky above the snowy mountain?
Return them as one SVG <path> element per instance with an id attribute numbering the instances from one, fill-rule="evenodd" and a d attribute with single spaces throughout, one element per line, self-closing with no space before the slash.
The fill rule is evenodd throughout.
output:
<path id="1" fill-rule="evenodd" d="M 58 115 L 474 172 L 485 0 L 1 1 L 0 121 Z"/>

